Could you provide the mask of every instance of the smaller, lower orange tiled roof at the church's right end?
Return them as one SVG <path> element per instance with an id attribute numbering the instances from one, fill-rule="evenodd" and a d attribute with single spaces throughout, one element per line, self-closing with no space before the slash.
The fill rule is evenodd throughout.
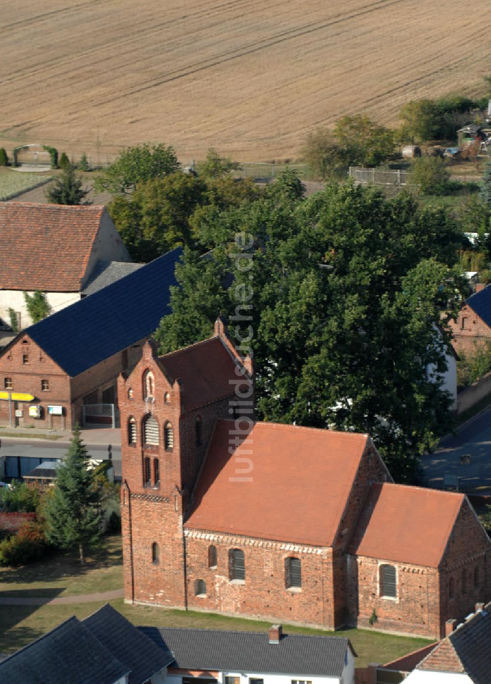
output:
<path id="1" fill-rule="evenodd" d="M 437 568 L 463 502 L 454 492 L 372 484 L 348 553 Z"/>

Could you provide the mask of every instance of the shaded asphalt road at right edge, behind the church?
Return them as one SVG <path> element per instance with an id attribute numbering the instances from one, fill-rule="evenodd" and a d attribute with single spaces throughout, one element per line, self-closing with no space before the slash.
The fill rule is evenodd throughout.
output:
<path id="1" fill-rule="evenodd" d="M 471 456 L 469 464 L 461 464 L 461 456 Z M 440 448 L 423 456 L 423 471 L 427 485 L 443 488 L 443 474 L 459 477 L 463 488 L 485 486 L 479 494 L 491 494 L 491 408 L 488 408 L 460 428 L 455 436 L 443 438 Z"/>

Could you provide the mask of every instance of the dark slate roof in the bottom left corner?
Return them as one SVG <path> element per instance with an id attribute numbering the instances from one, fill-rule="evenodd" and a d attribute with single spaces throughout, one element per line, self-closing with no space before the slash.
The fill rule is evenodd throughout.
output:
<path id="1" fill-rule="evenodd" d="M 127 674 L 75 617 L 0 662 L 5 684 L 113 684 Z"/>

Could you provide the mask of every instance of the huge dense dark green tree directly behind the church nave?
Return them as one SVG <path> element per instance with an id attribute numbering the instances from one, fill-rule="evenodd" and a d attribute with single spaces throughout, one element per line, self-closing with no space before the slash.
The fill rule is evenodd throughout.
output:
<path id="1" fill-rule="evenodd" d="M 449 396 L 426 369 L 445 369 L 440 319 L 463 287 L 451 269 L 455 222 L 410 194 L 387 200 L 349 183 L 305 199 L 287 178 L 217 214 L 215 228 L 210 258 L 186 250 L 176 269 L 160 351 L 204 339 L 218 313 L 247 305 L 231 332 L 243 352 L 253 347 L 258 417 L 369 432 L 394 476 L 414 479 L 451 423 Z M 249 272 L 237 235 L 252 238 Z M 242 343 L 249 324 L 253 340 Z"/>

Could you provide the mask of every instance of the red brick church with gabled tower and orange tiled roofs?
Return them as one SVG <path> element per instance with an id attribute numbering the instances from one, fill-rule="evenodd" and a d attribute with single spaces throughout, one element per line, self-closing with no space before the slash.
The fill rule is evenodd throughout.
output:
<path id="1" fill-rule="evenodd" d="M 440 638 L 490 599 L 465 495 L 394 484 L 367 434 L 254 423 L 252 372 L 219 319 L 120 376 L 126 601 Z"/>

